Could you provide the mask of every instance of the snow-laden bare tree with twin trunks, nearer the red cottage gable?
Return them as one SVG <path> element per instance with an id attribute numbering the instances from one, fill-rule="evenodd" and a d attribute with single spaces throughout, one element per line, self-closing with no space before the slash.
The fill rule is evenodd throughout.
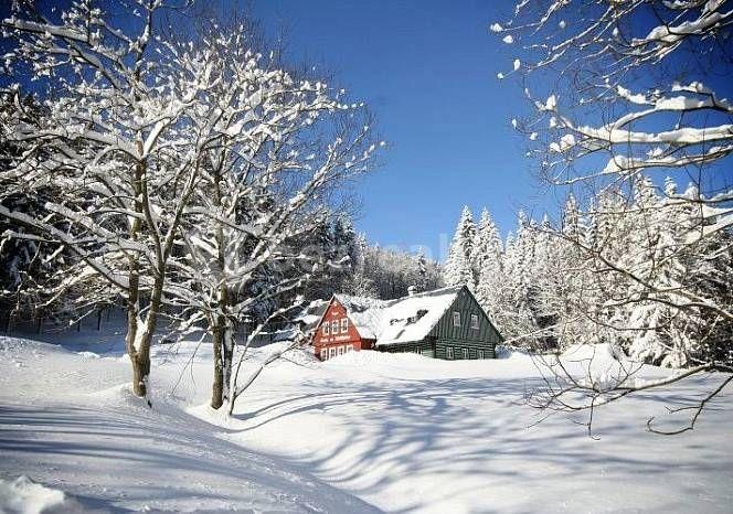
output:
<path id="1" fill-rule="evenodd" d="M 185 325 L 205 321 L 214 356 L 211 406 L 227 401 L 231 410 L 243 390 L 232 376 L 235 326 L 252 326 L 244 355 L 267 322 L 299 306 L 295 293 L 323 256 L 294 242 L 322 223 L 331 191 L 369 170 L 378 142 L 363 104 L 283 69 L 252 47 L 244 28 L 212 30 L 176 55 L 185 75 L 208 68 L 210 86 L 190 113 L 200 186 L 183 213 L 183 255 L 166 291 L 183 308 Z M 293 267 L 298 271 L 281 272 Z M 255 315 L 262 303 L 279 300 L 285 306 L 276 314 Z"/>

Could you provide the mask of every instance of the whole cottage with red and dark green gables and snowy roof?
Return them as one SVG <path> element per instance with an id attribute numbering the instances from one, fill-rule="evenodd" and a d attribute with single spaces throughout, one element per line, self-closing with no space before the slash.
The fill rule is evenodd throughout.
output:
<path id="1" fill-rule="evenodd" d="M 502 341 L 470 290 L 455 286 L 389 301 L 334 295 L 312 344 L 321 360 L 360 350 L 468 360 L 495 358 Z"/>

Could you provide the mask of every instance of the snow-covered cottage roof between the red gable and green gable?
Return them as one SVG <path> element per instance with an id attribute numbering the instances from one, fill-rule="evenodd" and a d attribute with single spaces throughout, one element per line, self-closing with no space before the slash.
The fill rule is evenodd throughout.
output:
<path id="1" fill-rule="evenodd" d="M 463 286 L 412 295 L 396 300 L 334 295 L 364 339 L 378 346 L 422 341 L 453 304 Z"/>

